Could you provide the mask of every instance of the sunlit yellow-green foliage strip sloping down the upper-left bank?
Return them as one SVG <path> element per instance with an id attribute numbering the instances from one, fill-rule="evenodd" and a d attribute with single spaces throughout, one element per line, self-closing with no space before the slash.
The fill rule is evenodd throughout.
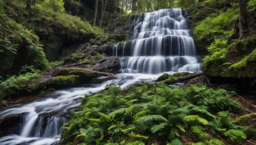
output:
<path id="1" fill-rule="evenodd" d="M 53 2 L 51 1 L 51 3 Z M 52 5 L 51 3 L 38 3 L 34 6 L 33 11 L 35 11 L 35 17 L 38 21 L 46 20 L 48 24 L 62 29 L 62 33 L 68 33 L 70 38 L 73 39 L 103 33 L 101 29 L 92 27 L 92 25 L 79 17 L 68 15 L 63 10 L 54 11 L 54 8 L 49 7 L 49 5 Z"/>

